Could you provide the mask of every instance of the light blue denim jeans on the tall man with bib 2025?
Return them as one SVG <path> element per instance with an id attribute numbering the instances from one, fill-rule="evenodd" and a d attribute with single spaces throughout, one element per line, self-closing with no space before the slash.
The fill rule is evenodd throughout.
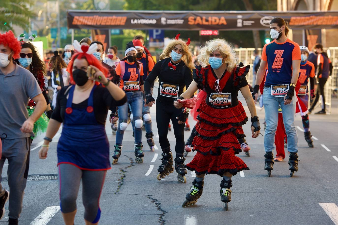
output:
<path id="1" fill-rule="evenodd" d="M 281 105 L 283 112 L 284 127 L 288 139 L 288 151 L 298 151 L 298 136 L 295 125 L 296 114 L 296 95 L 293 96 L 292 102 L 284 105 L 284 97 L 275 97 L 271 95 L 271 88 L 264 87 L 263 104 L 265 109 L 266 130 L 264 135 L 265 151 L 273 151 L 273 143 L 278 123 L 278 108 Z"/>

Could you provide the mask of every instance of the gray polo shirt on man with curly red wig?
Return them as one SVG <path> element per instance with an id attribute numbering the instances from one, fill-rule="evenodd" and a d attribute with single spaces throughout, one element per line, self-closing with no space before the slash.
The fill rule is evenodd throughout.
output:
<path id="1" fill-rule="evenodd" d="M 23 133 L 20 128 L 28 118 L 28 100 L 42 92 L 34 75 L 13 63 L 16 68 L 10 74 L 4 75 L 0 70 L 0 135 L 5 133 L 7 139 L 27 138 L 34 134 Z"/>

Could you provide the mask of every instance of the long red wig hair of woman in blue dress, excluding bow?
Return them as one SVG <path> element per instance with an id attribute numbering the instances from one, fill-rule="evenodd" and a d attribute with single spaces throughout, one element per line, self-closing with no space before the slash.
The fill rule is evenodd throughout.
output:
<path id="1" fill-rule="evenodd" d="M 70 83 L 75 84 L 75 81 L 73 79 L 73 64 L 75 59 L 86 59 L 88 62 L 88 65 L 93 65 L 96 66 L 103 74 L 105 77 L 109 77 L 110 74 L 108 72 L 108 69 L 102 65 L 102 63 L 97 60 L 97 58 L 94 55 L 90 55 L 87 53 L 79 52 L 75 53 L 72 57 L 72 60 L 69 62 L 68 67 L 71 69 L 70 71 Z M 99 82 L 95 82 L 96 85 L 99 85 Z"/>

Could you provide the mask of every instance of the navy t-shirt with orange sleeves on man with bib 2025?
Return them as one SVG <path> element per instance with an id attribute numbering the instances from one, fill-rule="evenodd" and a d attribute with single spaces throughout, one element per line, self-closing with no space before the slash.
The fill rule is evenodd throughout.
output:
<path id="1" fill-rule="evenodd" d="M 265 85 L 290 84 L 292 60 L 300 60 L 299 45 L 290 39 L 284 43 L 273 40 L 264 45 L 262 60 L 268 62 Z"/>

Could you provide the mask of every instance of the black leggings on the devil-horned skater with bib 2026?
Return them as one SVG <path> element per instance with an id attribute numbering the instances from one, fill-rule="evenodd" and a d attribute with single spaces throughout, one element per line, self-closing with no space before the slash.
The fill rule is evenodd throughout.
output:
<path id="1" fill-rule="evenodd" d="M 174 107 L 173 101 L 168 102 L 159 99 L 156 101 L 156 122 L 162 151 L 170 149 L 167 135 L 168 125 L 171 119 L 176 138 L 176 156 L 182 156 L 184 151 L 184 123 L 178 124 L 178 119 L 176 119 L 176 116 L 178 116 L 181 111 L 182 109 L 176 109 Z"/>

